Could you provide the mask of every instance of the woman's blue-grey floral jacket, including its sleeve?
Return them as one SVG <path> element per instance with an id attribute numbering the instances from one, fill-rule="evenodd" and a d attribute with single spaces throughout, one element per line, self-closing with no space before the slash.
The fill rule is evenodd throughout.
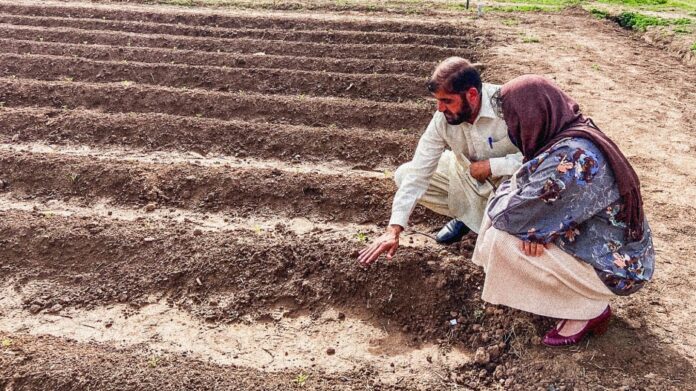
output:
<path id="1" fill-rule="evenodd" d="M 522 240 L 555 243 L 625 295 L 652 277 L 655 255 L 647 221 L 642 240 L 627 240 L 617 219 L 622 207 L 602 152 L 589 139 L 574 137 L 525 163 L 491 200 L 489 216 L 494 227 Z"/>

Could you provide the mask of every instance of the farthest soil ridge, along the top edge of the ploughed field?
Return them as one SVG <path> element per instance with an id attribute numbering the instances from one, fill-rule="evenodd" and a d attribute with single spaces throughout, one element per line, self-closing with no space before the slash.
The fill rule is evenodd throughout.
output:
<path id="1" fill-rule="evenodd" d="M 466 36 L 472 29 L 466 26 L 455 26 L 443 22 L 416 22 L 410 20 L 375 20 L 354 17 L 321 18 L 311 14 L 298 16 L 289 15 L 248 15 L 243 13 L 225 13 L 216 10 L 210 12 L 158 12 L 150 10 L 124 9 L 124 7 L 84 7 L 81 5 L 42 6 L 28 4 L 0 3 L 0 12 L 16 15 L 57 16 L 109 20 L 137 20 L 154 23 L 184 24 L 193 26 L 216 26 L 224 28 L 255 28 L 283 30 L 349 30 L 349 31 L 381 31 L 408 34 L 434 34 L 443 36 Z M 476 30 L 481 36 L 485 31 Z"/>

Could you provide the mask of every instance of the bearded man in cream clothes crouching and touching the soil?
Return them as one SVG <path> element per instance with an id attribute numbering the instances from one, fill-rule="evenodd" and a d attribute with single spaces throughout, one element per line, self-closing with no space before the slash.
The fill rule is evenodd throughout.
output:
<path id="1" fill-rule="evenodd" d="M 399 190 L 389 226 L 360 251 L 361 263 L 372 263 L 384 252 L 392 259 L 417 202 L 454 218 L 437 234 L 439 243 L 459 241 L 470 230 L 478 233 L 488 197 L 522 164 L 492 104 L 499 89 L 481 83 L 478 70 L 460 57 L 435 68 L 428 90 L 437 100 L 437 112 L 413 160 L 394 173 Z"/>

